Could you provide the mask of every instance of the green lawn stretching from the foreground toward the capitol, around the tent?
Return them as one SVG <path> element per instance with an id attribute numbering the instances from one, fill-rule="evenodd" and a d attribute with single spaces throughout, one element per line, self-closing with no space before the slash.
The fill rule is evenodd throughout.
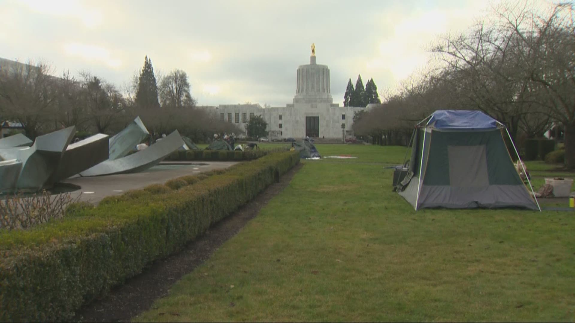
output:
<path id="1" fill-rule="evenodd" d="M 317 148 L 359 158 L 304 161 L 135 321 L 575 320 L 573 213 L 415 212 L 383 168 L 405 148 Z"/>

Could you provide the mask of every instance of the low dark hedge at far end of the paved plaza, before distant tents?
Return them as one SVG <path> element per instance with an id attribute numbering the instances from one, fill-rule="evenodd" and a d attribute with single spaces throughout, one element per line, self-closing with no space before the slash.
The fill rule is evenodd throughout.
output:
<path id="1" fill-rule="evenodd" d="M 205 161 L 241 161 L 254 160 L 267 155 L 267 151 L 221 151 L 221 150 L 190 150 L 175 151 L 166 160 L 205 160 Z"/>

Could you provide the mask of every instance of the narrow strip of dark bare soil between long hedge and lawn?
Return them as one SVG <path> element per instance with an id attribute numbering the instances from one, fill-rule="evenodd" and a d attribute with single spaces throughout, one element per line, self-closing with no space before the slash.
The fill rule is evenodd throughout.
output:
<path id="1" fill-rule="evenodd" d="M 199 239 L 186 245 L 181 252 L 153 263 L 142 274 L 110 291 L 104 299 L 83 306 L 72 320 L 128 322 L 150 309 L 156 299 L 167 295 L 172 284 L 209 259 L 212 252 L 258 215 L 260 209 L 289 184 L 301 167 L 302 164 L 298 164 L 292 168 L 279 179 L 279 183 L 271 184 L 253 201 L 214 225 Z"/>

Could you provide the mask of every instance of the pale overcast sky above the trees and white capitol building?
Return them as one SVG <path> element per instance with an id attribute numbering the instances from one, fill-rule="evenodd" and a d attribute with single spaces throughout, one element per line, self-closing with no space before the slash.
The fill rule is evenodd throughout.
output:
<path id="1" fill-rule="evenodd" d="M 0 0 L 0 57 L 43 60 L 54 74 L 87 70 L 124 87 L 144 56 L 187 72 L 200 105 L 285 106 L 296 70 L 331 71 L 333 102 L 347 80 L 393 87 L 427 60 L 425 45 L 469 26 L 477 0 Z"/>

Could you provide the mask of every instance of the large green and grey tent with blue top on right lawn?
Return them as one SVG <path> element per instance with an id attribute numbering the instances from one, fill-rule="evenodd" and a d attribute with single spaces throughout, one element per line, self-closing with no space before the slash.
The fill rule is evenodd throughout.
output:
<path id="1" fill-rule="evenodd" d="M 408 174 L 396 191 L 416 210 L 540 210 L 513 167 L 504 134 L 511 141 L 505 126 L 481 111 L 435 111 L 416 126 Z"/>

